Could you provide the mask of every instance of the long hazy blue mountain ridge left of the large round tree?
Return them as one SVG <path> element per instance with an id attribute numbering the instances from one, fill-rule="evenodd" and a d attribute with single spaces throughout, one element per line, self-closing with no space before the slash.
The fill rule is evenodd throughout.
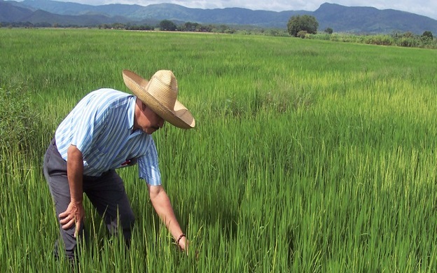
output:
<path id="1" fill-rule="evenodd" d="M 12 2 L 12 1 L 11 1 Z M 91 6 L 81 3 L 50 0 L 25 0 L 22 5 L 33 9 L 46 10 L 60 15 L 106 15 L 121 16 L 131 22 L 143 20 L 174 20 L 178 22 L 198 22 L 202 24 L 254 25 L 258 27 L 286 28 L 291 16 L 310 14 L 305 10 L 275 12 L 268 10 L 249 10 L 247 8 L 201 9 L 186 8 L 171 3 L 149 6 L 109 4 Z"/>

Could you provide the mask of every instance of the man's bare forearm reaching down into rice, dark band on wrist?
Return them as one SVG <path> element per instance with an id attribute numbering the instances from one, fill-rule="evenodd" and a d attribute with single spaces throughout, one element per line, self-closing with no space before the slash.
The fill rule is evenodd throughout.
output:
<path id="1" fill-rule="evenodd" d="M 174 216 L 172 204 L 170 203 L 169 197 L 167 196 L 167 193 L 165 193 L 164 188 L 162 188 L 162 186 L 151 186 L 148 184 L 147 187 L 148 194 L 156 213 L 160 216 L 161 221 L 165 223 L 165 226 L 172 234 L 173 238 L 175 240 L 179 239 L 183 232 L 176 220 L 176 216 Z M 186 243 L 186 237 L 181 237 L 179 240 L 179 246 L 182 250 L 187 250 Z"/>

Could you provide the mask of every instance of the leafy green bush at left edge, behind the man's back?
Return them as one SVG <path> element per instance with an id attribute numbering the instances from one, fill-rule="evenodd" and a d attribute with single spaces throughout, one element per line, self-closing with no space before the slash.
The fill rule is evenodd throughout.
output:
<path id="1" fill-rule="evenodd" d="M 25 87 L 0 87 L 0 144 L 6 149 L 31 153 L 38 143 L 41 116 Z"/>

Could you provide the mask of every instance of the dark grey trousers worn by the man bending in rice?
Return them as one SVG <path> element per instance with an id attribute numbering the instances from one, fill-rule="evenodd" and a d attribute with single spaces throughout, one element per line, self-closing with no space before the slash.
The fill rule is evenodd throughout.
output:
<path id="1" fill-rule="evenodd" d="M 46 155 L 44 155 L 43 172 L 55 203 L 57 224 L 60 228 L 60 236 L 64 241 L 65 253 L 68 258 L 73 259 L 77 247 L 77 241 L 74 237 L 76 226 L 73 225 L 69 230 L 64 230 L 59 223 L 59 214 L 66 211 L 70 203 L 67 162 L 57 151 L 54 139 L 50 142 Z M 135 217 L 120 176 L 113 170 L 105 172 L 102 176 L 83 176 L 83 192 L 104 219 L 109 232 L 112 235 L 115 234 L 118 231 L 118 225 L 120 225 L 125 241 L 129 245 Z M 83 225 L 78 230 L 78 237 L 81 237 L 82 234 Z M 55 245 L 55 255 L 58 254 L 57 245 Z"/>

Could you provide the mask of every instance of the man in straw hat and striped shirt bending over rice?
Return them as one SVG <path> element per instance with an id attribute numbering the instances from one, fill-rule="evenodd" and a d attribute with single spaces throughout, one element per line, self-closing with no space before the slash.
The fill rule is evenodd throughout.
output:
<path id="1" fill-rule="evenodd" d="M 65 253 L 71 259 L 76 255 L 76 235 L 83 232 L 83 193 L 102 215 L 109 232 L 123 230 L 129 245 L 134 214 L 115 169 L 136 162 L 156 213 L 176 244 L 183 250 L 188 247 L 161 185 L 151 134 L 165 121 L 190 129 L 195 120 L 176 99 L 178 85 L 172 71 L 160 70 L 147 81 L 125 70 L 123 79 L 134 95 L 105 88 L 85 96 L 57 127 L 44 156 L 44 176 L 55 203 Z M 55 255 L 59 254 L 57 246 Z"/>

